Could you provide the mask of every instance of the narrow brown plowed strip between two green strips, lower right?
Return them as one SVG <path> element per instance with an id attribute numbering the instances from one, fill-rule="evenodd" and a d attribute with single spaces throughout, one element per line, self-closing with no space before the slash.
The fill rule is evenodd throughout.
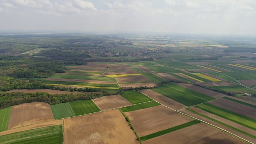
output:
<path id="1" fill-rule="evenodd" d="M 219 117 L 219 116 L 216 116 L 216 115 L 214 115 L 214 114 L 211 114 L 211 113 L 206 112 L 206 111 L 204 111 L 204 110 L 201 110 L 201 109 L 199 109 L 199 108 L 190 107 L 189 109 L 194 110 L 194 111 L 196 111 L 196 112 L 198 112 L 198 113 L 200 113 L 200 114 L 203 114 L 203 115 L 205 115 L 205 116 L 208 116 L 208 117 L 210 117 L 210 118 L 213 118 L 214 120 L 218 120 L 218 121 L 220 121 L 220 122 L 223 122 L 224 124 L 228 124 L 229 126 L 232 126 L 232 127 L 234 127 L 234 128 L 237 128 L 237 129 L 239 129 L 239 130 L 242 130 L 242 131 L 244 131 L 244 132 L 247 132 L 247 133 L 249 133 L 249 134 L 252 134 L 252 135 L 255 135 L 255 136 L 256 136 L 255 131 L 252 130 L 252 129 L 250 129 L 250 128 L 246 128 L 245 126 L 241 126 L 240 124 L 237 124 L 237 123 L 235 123 L 235 122 L 231 122 L 231 121 L 229 121 L 229 120 L 227 120 L 227 119 L 225 119 L 225 118 L 221 118 L 221 117 Z"/>

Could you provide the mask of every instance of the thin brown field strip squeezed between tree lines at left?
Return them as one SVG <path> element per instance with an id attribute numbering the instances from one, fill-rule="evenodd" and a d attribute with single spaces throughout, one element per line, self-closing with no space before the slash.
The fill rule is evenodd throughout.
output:
<path id="1" fill-rule="evenodd" d="M 8 92 L 47 92 L 49 94 L 84 94 L 84 92 L 67 92 L 67 91 L 60 91 L 60 90 L 48 90 L 48 89 L 39 89 L 39 90 L 10 90 Z"/>

